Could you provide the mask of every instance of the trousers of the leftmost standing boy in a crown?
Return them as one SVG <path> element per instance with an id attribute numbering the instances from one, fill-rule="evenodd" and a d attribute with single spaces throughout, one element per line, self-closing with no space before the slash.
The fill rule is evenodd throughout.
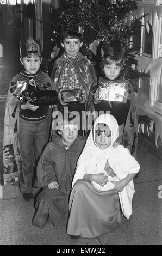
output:
<path id="1" fill-rule="evenodd" d="M 20 191 L 32 193 L 33 170 L 43 146 L 48 142 L 48 119 L 27 121 L 20 118 L 18 140 L 21 157 Z"/>

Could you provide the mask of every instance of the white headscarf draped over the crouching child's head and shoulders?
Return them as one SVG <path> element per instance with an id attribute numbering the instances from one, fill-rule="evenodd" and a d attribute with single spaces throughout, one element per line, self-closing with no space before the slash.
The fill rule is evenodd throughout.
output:
<path id="1" fill-rule="evenodd" d="M 96 125 L 98 123 L 104 123 L 109 126 L 111 131 L 111 145 L 106 149 L 101 149 L 95 142 Z M 73 178 L 72 187 L 78 179 L 83 179 L 83 176 L 87 173 L 85 170 L 85 162 L 95 162 L 99 169 L 104 170 L 105 164 L 108 161 L 110 167 L 113 169 L 119 180 L 127 177 L 130 173 L 138 173 L 140 166 L 139 163 L 130 155 L 128 149 L 119 145 L 116 148 L 113 147 L 114 142 L 118 137 L 118 124 L 113 115 L 102 114 L 96 119 L 94 126 L 92 127 L 88 139 L 82 154 L 80 155 L 76 173 Z M 134 194 L 133 180 L 124 187 L 122 192 L 119 192 L 121 208 L 126 218 L 132 214 L 132 198 Z"/>

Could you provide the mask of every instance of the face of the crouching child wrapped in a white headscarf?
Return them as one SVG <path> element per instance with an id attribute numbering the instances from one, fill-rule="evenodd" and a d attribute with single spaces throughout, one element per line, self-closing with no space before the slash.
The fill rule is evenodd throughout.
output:
<path id="1" fill-rule="evenodd" d="M 101 149 L 107 149 L 111 145 L 111 131 L 108 125 L 98 124 L 95 131 L 95 142 Z"/>

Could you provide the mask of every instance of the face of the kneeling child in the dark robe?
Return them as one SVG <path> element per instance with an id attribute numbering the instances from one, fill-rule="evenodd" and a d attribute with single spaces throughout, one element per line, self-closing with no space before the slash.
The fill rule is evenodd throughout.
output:
<path id="1" fill-rule="evenodd" d="M 64 124 L 60 130 L 60 134 L 63 144 L 70 147 L 78 136 L 77 124 Z"/>

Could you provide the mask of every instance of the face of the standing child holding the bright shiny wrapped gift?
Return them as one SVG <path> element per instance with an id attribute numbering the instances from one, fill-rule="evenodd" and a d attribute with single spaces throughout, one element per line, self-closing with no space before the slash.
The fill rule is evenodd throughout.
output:
<path id="1" fill-rule="evenodd" d="M 104 74 L 105 77 L 109 78 L 110 80 L 114 80 L 120 74 L 121 68 L 116 66 L 115 63 L 104 65 Z"/>

